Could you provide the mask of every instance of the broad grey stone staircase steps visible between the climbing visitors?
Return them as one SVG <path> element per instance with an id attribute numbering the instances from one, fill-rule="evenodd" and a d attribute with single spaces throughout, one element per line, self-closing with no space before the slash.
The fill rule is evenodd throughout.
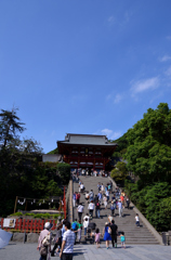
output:
<path id="1" fill-rule="evenodd" d="M 80 176 L 80 180 L 83 182 L 86 186 L 86 191 L 93 190 L 94 195 L 98 193 L 97 191 L 97 183 L 101 182 L 104 185 L 107 184 L 108 178 L 102 178 L 102 177 L 82 177 Z M 74 182 L 74 192 L 78 192 L 79 186 L 78 183 Z M 110 195 L 111 196 L 111 195 Z M 80 202 L 84 206 L 84 213 L 83 216 L 89 212 L 88 210 L 88 203 L 84 199 L 84 193 L 81 194 Z M 103 232 L 105 222 L 107 222 L 107 217 L 110 214 L 109 205 L 107 209 L 104 209 L 104 206 L 101 207 L 101 219 L 95 218 L 95 212 L 93 217 L 93 222 L 96 223 L 96 227 L 100 229 L 101 233 Z M 137 227 L 135 225 L 135 212 L 133 209 L 123 208 L 122 211 L 122 218 L 119 218 L 118 210 L 115 210 L 116 217 L 115 223 L 118 225 L 118 231 L 123 231 L 126 236 L 127 245 L 159 245 L 159 242 L 156 239 L 156 237 L 148 231 L 148 229 L 143 224 L 143 222 L 140 219 L 141 226 Z M 74 210 L 74 218 L 78 219 L 77 209 Z M 82 231 L 82 239 L 83 239 L 83 231 Z M 120 243 L 120 239 L 118 238 L 118 243 Z"/>

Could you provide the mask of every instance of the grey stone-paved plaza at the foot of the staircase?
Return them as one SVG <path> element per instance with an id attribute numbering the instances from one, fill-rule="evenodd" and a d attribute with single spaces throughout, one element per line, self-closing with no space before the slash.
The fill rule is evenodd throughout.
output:
<path id="1" fill-rule="evenodd" d="M 39 260 L 40 256 L 37 251 L 37 244 L 10 243 L 9 246 L 0 249 L 0 260 Z M 126 249 L 121 247 L 106 249 L 105 245 L 96 249 L 95 245 L 76 245 L 74 250 L 74 260 L 170 260 L 170 246 L 128 246 Z M 58 257 L 52 259 L 58 260 Z"/>

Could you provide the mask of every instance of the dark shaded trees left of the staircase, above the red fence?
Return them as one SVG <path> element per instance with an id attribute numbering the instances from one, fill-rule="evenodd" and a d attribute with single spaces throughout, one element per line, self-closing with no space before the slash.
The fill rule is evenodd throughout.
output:
<path id="1" fill-rule="evenodd" d="M 25 128 L 16 112 L 0 113 L 0 216 L 12 213 L 16 196 L 45 198 L 62 194 L 57 165 L 40 162 L 40 144 L 19 138 Z"/>

